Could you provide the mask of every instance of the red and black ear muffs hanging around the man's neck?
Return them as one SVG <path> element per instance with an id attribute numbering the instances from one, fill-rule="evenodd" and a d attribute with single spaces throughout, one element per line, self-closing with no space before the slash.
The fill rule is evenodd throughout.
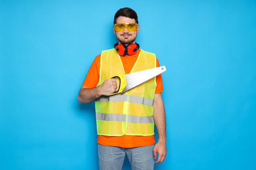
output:
<path id="1" fill-rule="evenodd" d="M 139 44 L 128 44 L 127 46 L 124 44 L 114 44 L 115 49 L 119 53 L 119 55 L 134 55 L 137 53 L 139 49 Z"/>

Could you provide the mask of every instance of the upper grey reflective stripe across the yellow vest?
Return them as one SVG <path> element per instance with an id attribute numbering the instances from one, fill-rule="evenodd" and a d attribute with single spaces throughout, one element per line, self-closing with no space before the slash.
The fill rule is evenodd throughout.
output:
<path id="1" fill-rule="evenodd" d="M 95 101 L 97 102 L 109 102 L 109 101 L 128 101 L 132 103 L 138 103 L 138 104 L 146 104 L 146 105 L 153 105 L 154 99 L 148 99 L 146 97 L 139 97 L 139 96 L 129 96 L 127 94 L 117 94 L 112 96 L 101 96 Z"/>

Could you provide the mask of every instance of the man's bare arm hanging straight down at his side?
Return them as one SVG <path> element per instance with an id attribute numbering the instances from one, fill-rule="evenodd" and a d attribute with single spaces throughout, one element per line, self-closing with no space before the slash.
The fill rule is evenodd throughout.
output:
<path id="1" fill-rule="evenodd" d="M 158 133 L 158 141 L 157 141 L 157 144 L 155 144 L 155 148 L 153 152 L 154 152 L 155 159 L 157 158 L 157 153 L 158 153 L 158 159 L 157 161 L 155 161 L 155 163 L 161 163 L 164 161 L 167 154 L 166 117 L 165 117 L 165 110 L 164 110 L 164 102 L 163 102 L 161 93 L 155 94 L 153 109 L 154 109 L 153 117 L 154 117 L 155 126 L 157 128 L 157 133 Z"/>

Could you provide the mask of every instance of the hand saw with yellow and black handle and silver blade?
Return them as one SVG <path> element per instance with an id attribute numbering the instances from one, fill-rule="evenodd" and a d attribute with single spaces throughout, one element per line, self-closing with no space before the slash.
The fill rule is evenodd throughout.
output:
<path id="1" fill-rule="evenodd" d="M 150 68 L 143 71 L 138 71 L 135 73 L 119 74 L 119 75 L 112 76 L 110 78 L 115 78 L 117 80 L 117 91 L 115 91 L 111 95 L 124 93 L 130 90 L 131 88 L 134 88 L 165 71 L 166 71 L 166 67 L 160 66 L 160 67 Z"/>

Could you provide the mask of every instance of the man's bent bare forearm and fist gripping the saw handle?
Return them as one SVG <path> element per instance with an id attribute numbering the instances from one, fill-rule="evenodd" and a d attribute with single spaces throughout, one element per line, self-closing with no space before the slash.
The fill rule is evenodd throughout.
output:
<path id="1" fill-rule="evenodd" d="M 101 95 L 111 95 L 117 89 L 116 81 L 116 79 L 106 79 L 103 84 L 95 88 L 87 88 L 82 86 L 77 96 L 79 103 L 90 103 Z"/>

